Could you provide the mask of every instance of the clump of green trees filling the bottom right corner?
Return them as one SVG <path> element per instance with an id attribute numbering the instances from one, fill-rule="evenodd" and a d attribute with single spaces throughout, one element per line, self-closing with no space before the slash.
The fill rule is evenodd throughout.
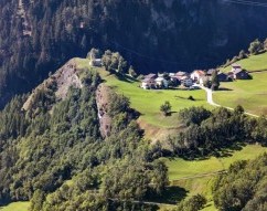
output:
<path id="1" fill-rule="evenodd" d="M 220 211 L 267 210 L 267 154 L 253 161 L 238 161 L 214 184 Z"/>

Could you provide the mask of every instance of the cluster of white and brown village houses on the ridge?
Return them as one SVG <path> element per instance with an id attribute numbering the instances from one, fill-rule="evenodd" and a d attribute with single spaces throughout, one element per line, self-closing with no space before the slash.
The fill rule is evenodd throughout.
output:
<path id="1" fill-rule="evenodd" d="M 234 80 L 248 80 L 249 74 L 243 70 L 239 64 L 233 64 L 228 73 L 220 72 L 218 70 L 211 68 L 209 71 L 195 70 L 192 73 L 178 72 L 168 74 L 148 74 L 141 82 L 141 87 L 145 89 L 150 88 L 168 88 L 170 86 L 183 85 L 185 87 L 194 87 L 194 84 L 204 85 L 205 81 L 211 81 L 214 72 L 217 72 L 220 82 L 231 82 Z"/>

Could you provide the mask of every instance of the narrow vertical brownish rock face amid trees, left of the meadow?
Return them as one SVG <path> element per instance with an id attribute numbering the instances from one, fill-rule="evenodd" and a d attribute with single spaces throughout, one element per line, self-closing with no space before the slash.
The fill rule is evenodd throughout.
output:
<path id="1" fill-rule="evenodd" d="M 111 130 L 111 118 L 107 114 L 109 99 L 109 88 L 100 84 L 96 91 L 96 104 L 98 109 L 98 119 L 100 124 L 102 136 L 108 137 Z"/>

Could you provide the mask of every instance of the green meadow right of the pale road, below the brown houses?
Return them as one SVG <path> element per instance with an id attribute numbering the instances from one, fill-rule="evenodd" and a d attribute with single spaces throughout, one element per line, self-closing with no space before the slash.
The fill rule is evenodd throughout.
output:
<path id="1" fill-rule="evenodd" d="M 222 83 L 221 87 L 227 91 L 215 92 L 214 102 L 228 107 L 242 105 L 246 112 L 267 115 L 267 72 L 252 75 L 253 80 Z"/>

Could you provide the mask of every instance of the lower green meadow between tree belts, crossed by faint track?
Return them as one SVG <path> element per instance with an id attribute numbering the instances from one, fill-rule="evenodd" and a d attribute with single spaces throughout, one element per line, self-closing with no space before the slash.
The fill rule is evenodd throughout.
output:
<path id="1" fill-rule="evenodd" d="M 204 194 L 207 198 L 209 203 L 203 211 L 216 211 L 212 201 L 211 191 L 211 186 L 215 175 L 210 175 L 206 177 L 197 176 L 227 169 L 234 161 L 254 159 L 264 152 L 267 152 L 267 148 L 264 148 L 259 145 L 248 145 L 239 150 L 227 149 L 224 151 L 224 154 L 227 156 L 221 158 L 211 157 L 205 160 L 194 161 L 184 160 L 181 158 L 164 158 L 164 161 L 169 168 L 169 179 L 171 180 L 171 186 L 180 187 L 180 189 L 182 188 L 183 192 L 186 193 L 186 197 L 197 193 Z"/>

